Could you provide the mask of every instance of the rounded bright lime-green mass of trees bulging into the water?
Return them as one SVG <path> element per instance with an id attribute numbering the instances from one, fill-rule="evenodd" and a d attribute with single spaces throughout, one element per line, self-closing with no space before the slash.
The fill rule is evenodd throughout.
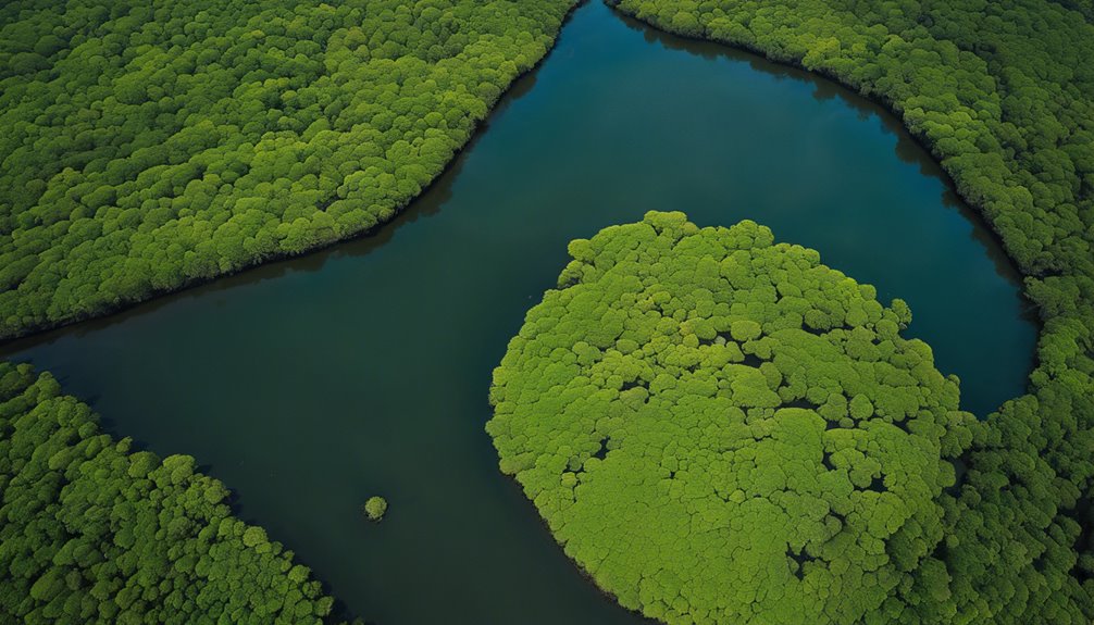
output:
<path id="1" fill-rule="evenodd" d="M 487 429 L 597 583 L 668 623 L 765 625 L 893 622 L 946 588 L 975 420 L 900 337 L 904 302 L 752 222 L 651 212 L 569 249 Z"/>

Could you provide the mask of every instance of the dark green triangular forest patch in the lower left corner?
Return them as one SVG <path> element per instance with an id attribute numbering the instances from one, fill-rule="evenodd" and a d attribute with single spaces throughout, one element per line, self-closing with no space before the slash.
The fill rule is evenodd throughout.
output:
<path id="1" fill-rule="evenodd" d="M 0 621 L 325 621 L 333 600 L 223 484 L 130 446 L 49 374 L 0 363 Z"/>

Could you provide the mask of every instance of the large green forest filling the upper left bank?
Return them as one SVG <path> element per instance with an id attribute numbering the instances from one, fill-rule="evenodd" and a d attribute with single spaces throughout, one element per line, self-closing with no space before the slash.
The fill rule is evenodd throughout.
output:
<path id="1" fill-rule="evenodd" d="M 0 339 L 387 221 L 572 3 L 2 3 Z"/>

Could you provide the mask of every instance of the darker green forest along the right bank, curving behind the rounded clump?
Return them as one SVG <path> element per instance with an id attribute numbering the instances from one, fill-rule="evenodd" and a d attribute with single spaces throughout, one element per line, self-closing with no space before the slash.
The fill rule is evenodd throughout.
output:
<path id="1" fill-rule="evenodd" d="M 976 429 L 924 624 L 1094 623 L 1094 5 L 620 0 L 887 104 L 999 233 L 1044 321 L 1029 394 Z M 896 307 L 894 307 L 896 309 Z M 945 594 L 945 597 L 943 597 Z M 932 612 L 933 611 L 933 612 Z"/>

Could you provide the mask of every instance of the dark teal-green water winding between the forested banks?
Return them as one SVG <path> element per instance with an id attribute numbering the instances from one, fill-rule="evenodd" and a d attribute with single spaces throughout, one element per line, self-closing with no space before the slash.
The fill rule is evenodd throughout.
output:
<path id="1" fill-rule="evenodd" d="M 33 341 L 107 427 L 189 453 L 382 625 L 616 624 L 497 469 L 487 388 L 566 244 L 650 209 L 754 219 L 911 305 L 985 415 L 1036 328 L 1015 274 L 876 107 L 755 57 L 577 11 L 456 166 L 373 237 Z M 360 505 L 391 502 L 371 524 Z"/>

